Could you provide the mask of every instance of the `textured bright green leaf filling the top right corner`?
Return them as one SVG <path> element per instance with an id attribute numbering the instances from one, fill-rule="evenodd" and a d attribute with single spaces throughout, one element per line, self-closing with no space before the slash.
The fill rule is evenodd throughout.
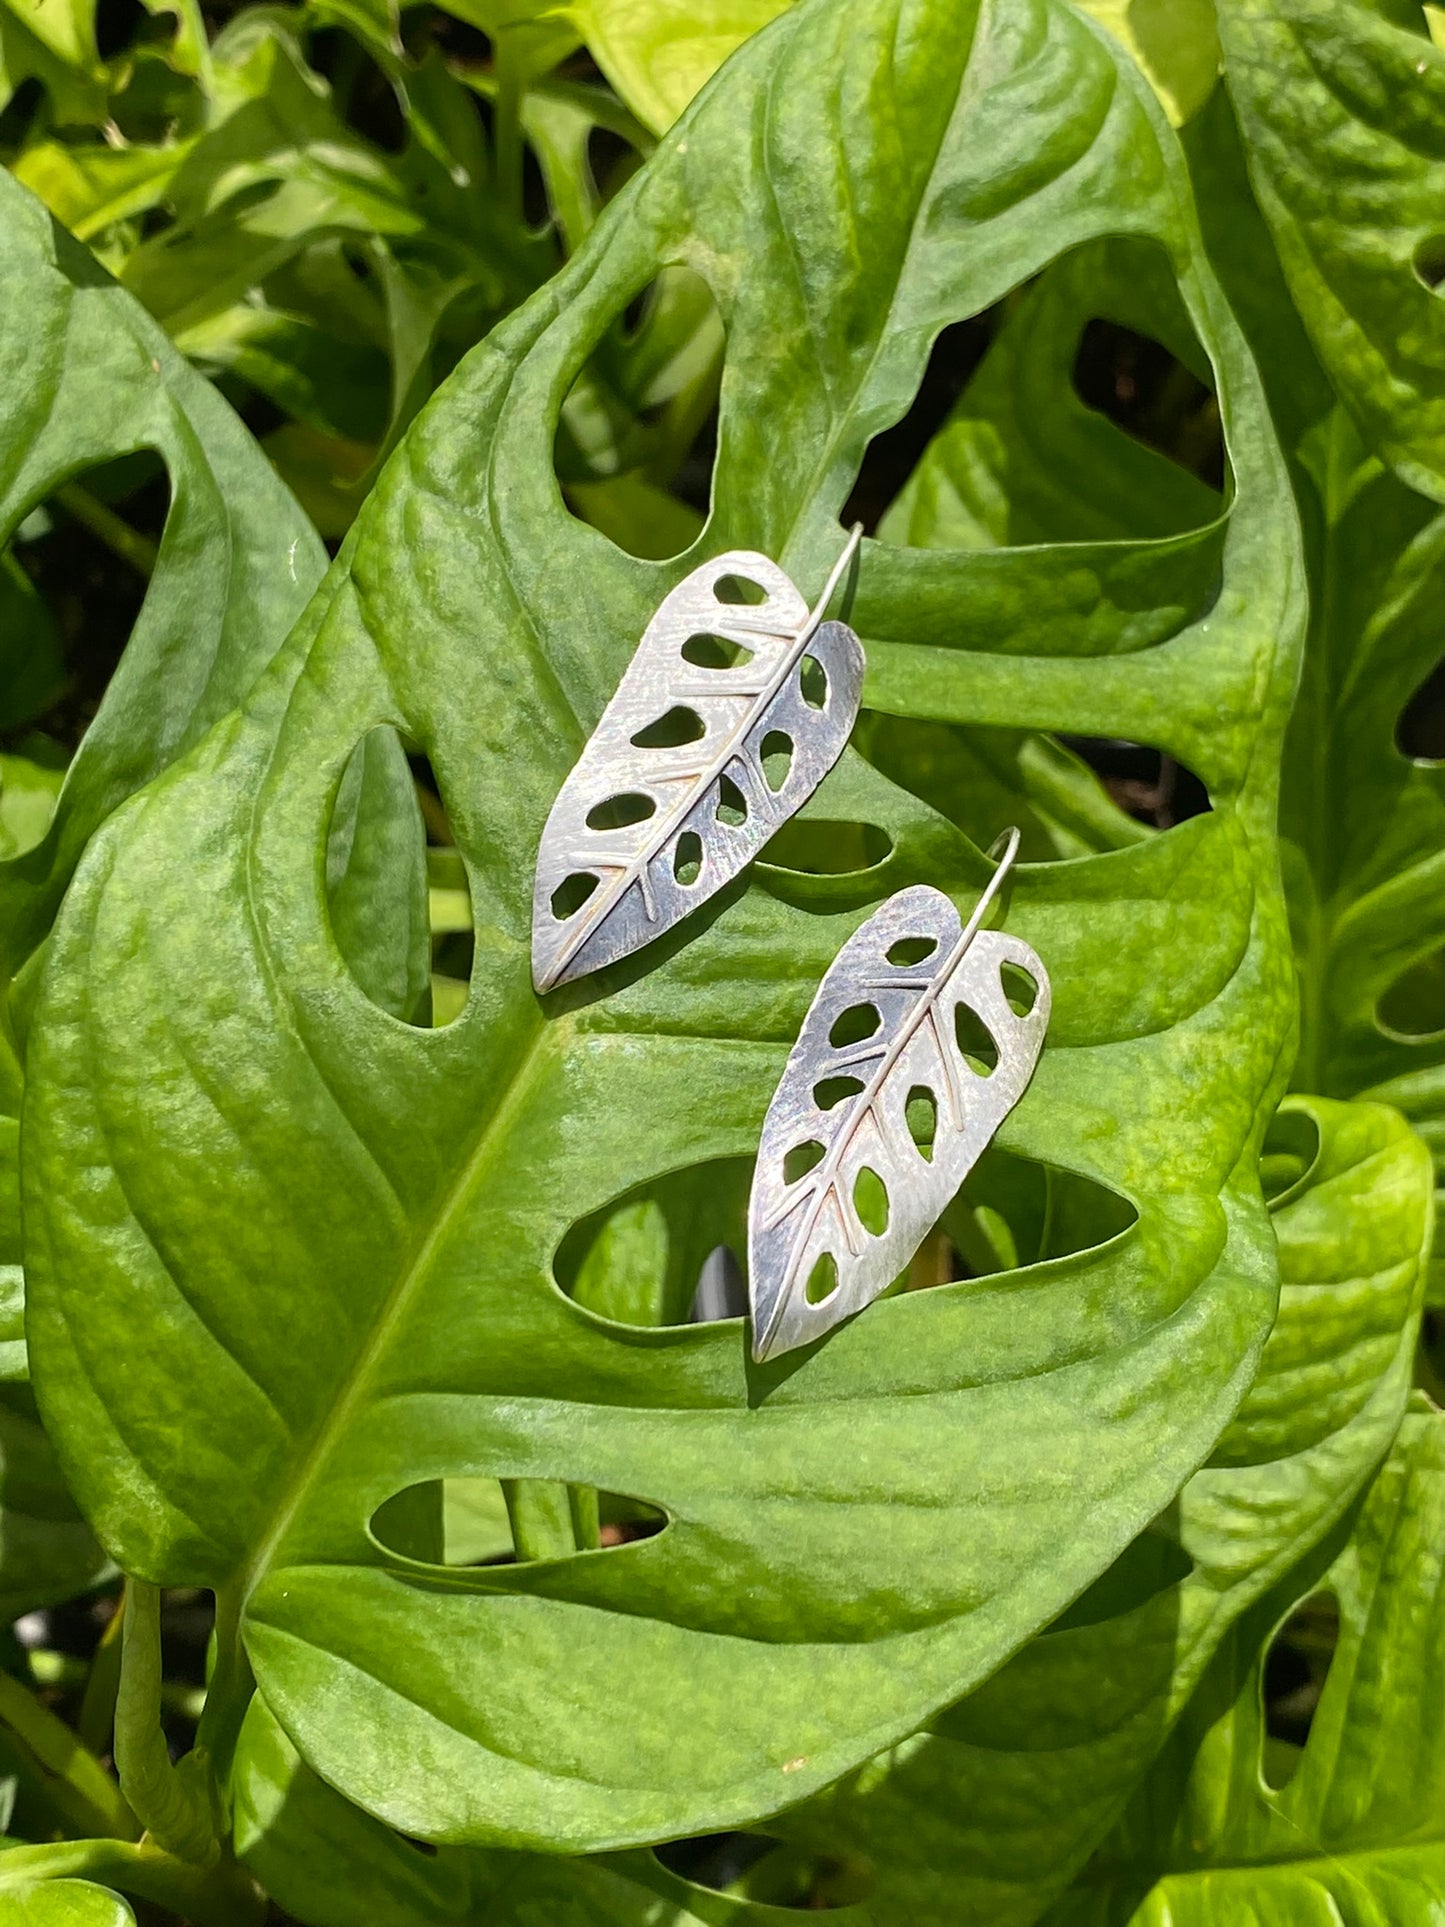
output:
<path id="1" fill-rule="evenodd" d="M 1295 306 L 1366 443 L 1445 499 L 1445 54 L 1420 8 L 1220 0 Z"/>

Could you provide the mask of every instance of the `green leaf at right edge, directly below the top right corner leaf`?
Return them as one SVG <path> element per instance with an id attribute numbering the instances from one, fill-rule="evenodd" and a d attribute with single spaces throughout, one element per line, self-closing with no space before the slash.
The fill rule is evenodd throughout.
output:
<path id="1" fill-rule="evenodd" d="M 1445 1170 L 1445 767 L 1399 746 L 1439 661 L 1445 516 L 1372 466 L 1335 416 L 1316 640 L 1285 761 L 1299 929 L 1299 1083 L 1372 1091 Z"/>

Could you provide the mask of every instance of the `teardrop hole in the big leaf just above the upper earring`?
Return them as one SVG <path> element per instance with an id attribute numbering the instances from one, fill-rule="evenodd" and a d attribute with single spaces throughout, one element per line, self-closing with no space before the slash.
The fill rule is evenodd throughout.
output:
<path id="1" fill-rule="evenodd" d="M 613 310 L 563 401 L 563 501 L 628 555 L 669 561 L 703 528 L 717 457 L 722 316 L 707 281 L 667 266 Z"/>

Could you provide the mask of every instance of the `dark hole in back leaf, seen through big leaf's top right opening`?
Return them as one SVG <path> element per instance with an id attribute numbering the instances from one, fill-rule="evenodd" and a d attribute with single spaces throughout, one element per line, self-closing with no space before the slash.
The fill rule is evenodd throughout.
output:
<path id="1" fill-rule="evenodd" d="M 1162 341 L 1090 318 L 1073 358 L 1073 389 L 1131 441 L 1177 462 L 1206 488 L 1223 489 L 1220 401 Z"/>

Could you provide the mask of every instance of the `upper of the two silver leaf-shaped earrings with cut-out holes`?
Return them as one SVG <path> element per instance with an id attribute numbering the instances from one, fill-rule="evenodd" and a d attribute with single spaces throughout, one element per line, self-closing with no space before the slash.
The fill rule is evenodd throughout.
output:
<path id="1" fill-rule="evenodd" d="M 730 549 L 663 601 L 551 805 L 532 896 L 538 990 L 670 931 L 744 869 L 832 765 L 863 646 L 767 555 Z"/>

